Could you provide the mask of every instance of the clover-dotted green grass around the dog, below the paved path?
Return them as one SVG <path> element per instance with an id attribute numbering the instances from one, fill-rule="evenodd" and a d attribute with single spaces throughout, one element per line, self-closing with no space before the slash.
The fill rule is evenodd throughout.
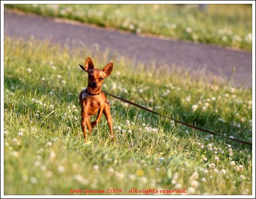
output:
<path id="1" fill-rule="evenodd" d="M 132 60 L 107 51 L 92 55 L 86 47 L 70 50 L 47 41 L 6 37 L 4 194 L 67 195 L 80 188 L 122 189 L 125 195 L 132 188 L 252 194 L 251 147 L 193 131 L 110 97 L 115 142 L 102 118 L 84 144 L 77 95 L 86 87 L 87 75 L 77 64 L 87 56 L 96 68 L 114 63 L 102 90 L 252 141 L 249 89 L 220 79 L 205 82 L 184 71 L 133 66 Z M 198 105 L 194 112 L 193 105 Z"/>

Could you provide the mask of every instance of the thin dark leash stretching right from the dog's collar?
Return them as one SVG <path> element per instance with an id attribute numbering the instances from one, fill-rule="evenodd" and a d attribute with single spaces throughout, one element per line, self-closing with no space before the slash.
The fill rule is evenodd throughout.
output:
<path id="1" fill-rule="evenodd" d="M 102 91 L 102 92 L 104 92 L 104 91 Z M 205 129 L 203 129 L 203 128 L 200 128 L 200 127 L 197 127 L 197 126 L 194 126 L 194 125 L 191 125 L 191 124 L 187 124 L 186 122 L 178 121 L 177 119 L 172 119 L 171 117 L 167 117 L 167 116 L 161 115 L 161 114 L 159 114 L 159 113 L 157 113 L 157 112 L 154 112 L 153 110 L 149 110 L 148 108 L 142 107 L 141 105 L 138 105 L 138 104 L 136 104 L 136 103 L 133 103 L 133 102 L 131 102 L 131 101 L 128 101 L 127 99 L 120 98 L 120 97 L 115 96 L 115 95 L 113 95 L 113 94 L 110 94 L 110 93 L 108 93 L 108 92 L 104 92 L 104 93 L 105 93 L 105 94 L 108 94 L 109 96 L 111 96 L 111 97 L 113 97 L 113 98 L 119 99 L 120 101 L 124 101 L 125 103 L 129 103 L 130 105 L 133 105 L 134 107 L 138 107 L 138 108 L 141 108 L 141 109 L 143 109 L 143 110 L 147 110 L 148 112 L 152 112 L 153 114 L 160 115 L 161 117 L 165 117 L 165 118 L 167 118 L 167 119 L 170 119 L 170 120 L 172 120 L 172 121 L 174 121 L 174 122 L 177 122 L 177 123 L 180 123 L 180 124 L 182 124 L 182 125 L 188 126 L 188 127 L 190 127 L 190 128 L 193 128 L 193 129 L 196 129 L 196 130 L 199 130 L 199 131 L 204 131 L 204 132 L 206 132 L 206 133 L 211 133 L 212 135 L 222 136 L 223 138 L 227 138 L 228 140 L 233 140 L 233 141 L 235 141 L 235 142 L 240 142 L 240 143 L 242 143 L 242 144 L 246 144 L 246 145 L 252 146 L 252 143 L 250 143 L 250 142 L 245 142 L 245 141 L 243 141 L 243 140 L 237 140 L 236 138 L 230 138 L 230 137 L 223 136 L 223 135 L 220 135 L 220 134 L 217 134 L 217 133 L 213 133 L 213 132 L 208 131 L 208 130 L 205 130 Z"/>

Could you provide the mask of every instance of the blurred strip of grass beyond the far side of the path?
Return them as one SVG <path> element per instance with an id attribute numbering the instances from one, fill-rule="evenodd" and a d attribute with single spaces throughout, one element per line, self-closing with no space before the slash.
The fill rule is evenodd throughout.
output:
<path id="1" fill-rule="evenodd" d="M 68 18 L 132 33 L 252 50 L 252 6 L 209 4 L 5 4 L 50 17 Z"/>

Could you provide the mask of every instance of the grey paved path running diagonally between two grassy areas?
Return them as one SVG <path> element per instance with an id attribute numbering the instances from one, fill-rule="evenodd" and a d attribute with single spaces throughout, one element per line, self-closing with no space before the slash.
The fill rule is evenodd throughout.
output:
<path id="1" fill-rule="evenodd" d="M 209 78 L 212 76 L 210 74 L 230 78 L 235 67 L 236 85 L 252 87 L 252 52 L 228 50 L 188 41 L 138 36 L 79 23 L 63 23 L 51 18 L 13 13 L 8 10 L 4 11 L 4 34 L 24 38 L 34 35 L 36 38 L 43 40 L 51 38 L 52 41 L 61 43 L 67 42 L 67 39 L 76 39 L 83 41 L 88 47 L 98 43 L 100 50 L 108 47 L 113 52 L 145 64 L 155 61 L 157 66 L 168 64 L 171 68 L 177 64 L 190 71 L 200 71 L 205 68 Z"/>

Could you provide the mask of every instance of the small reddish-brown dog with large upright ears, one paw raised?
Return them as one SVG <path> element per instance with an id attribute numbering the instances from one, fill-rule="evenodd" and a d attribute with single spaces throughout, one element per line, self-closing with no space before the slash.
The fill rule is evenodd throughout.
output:
<path id="1" fill-rule="evenodd" d="M 87 57 L 84 66 L 81 66 L 80 64 L 79 66 L 88 73 L 88 87 L 83 89 L 83 91 L 79 94 L 82 115 L 81 126 L 84 134 L 84 142 L 87 141 L 86 126 L 89 131 L 88 134 L 90 135 L 92 128 L 99 124 L 102 112 L 106 116 L 111 138 L 114 140 L 113 121 L 110 114 L 108 99 L 101 91 L 101 85 L 104 78 L 108 77 L 113 70 L 113 63 L 109 63 L 102 70 L 99 70 L 94 68 L 92 59 Z M 96 121 L 90 123 L 90 116 L 97 113 L 98 115 Z"/>

